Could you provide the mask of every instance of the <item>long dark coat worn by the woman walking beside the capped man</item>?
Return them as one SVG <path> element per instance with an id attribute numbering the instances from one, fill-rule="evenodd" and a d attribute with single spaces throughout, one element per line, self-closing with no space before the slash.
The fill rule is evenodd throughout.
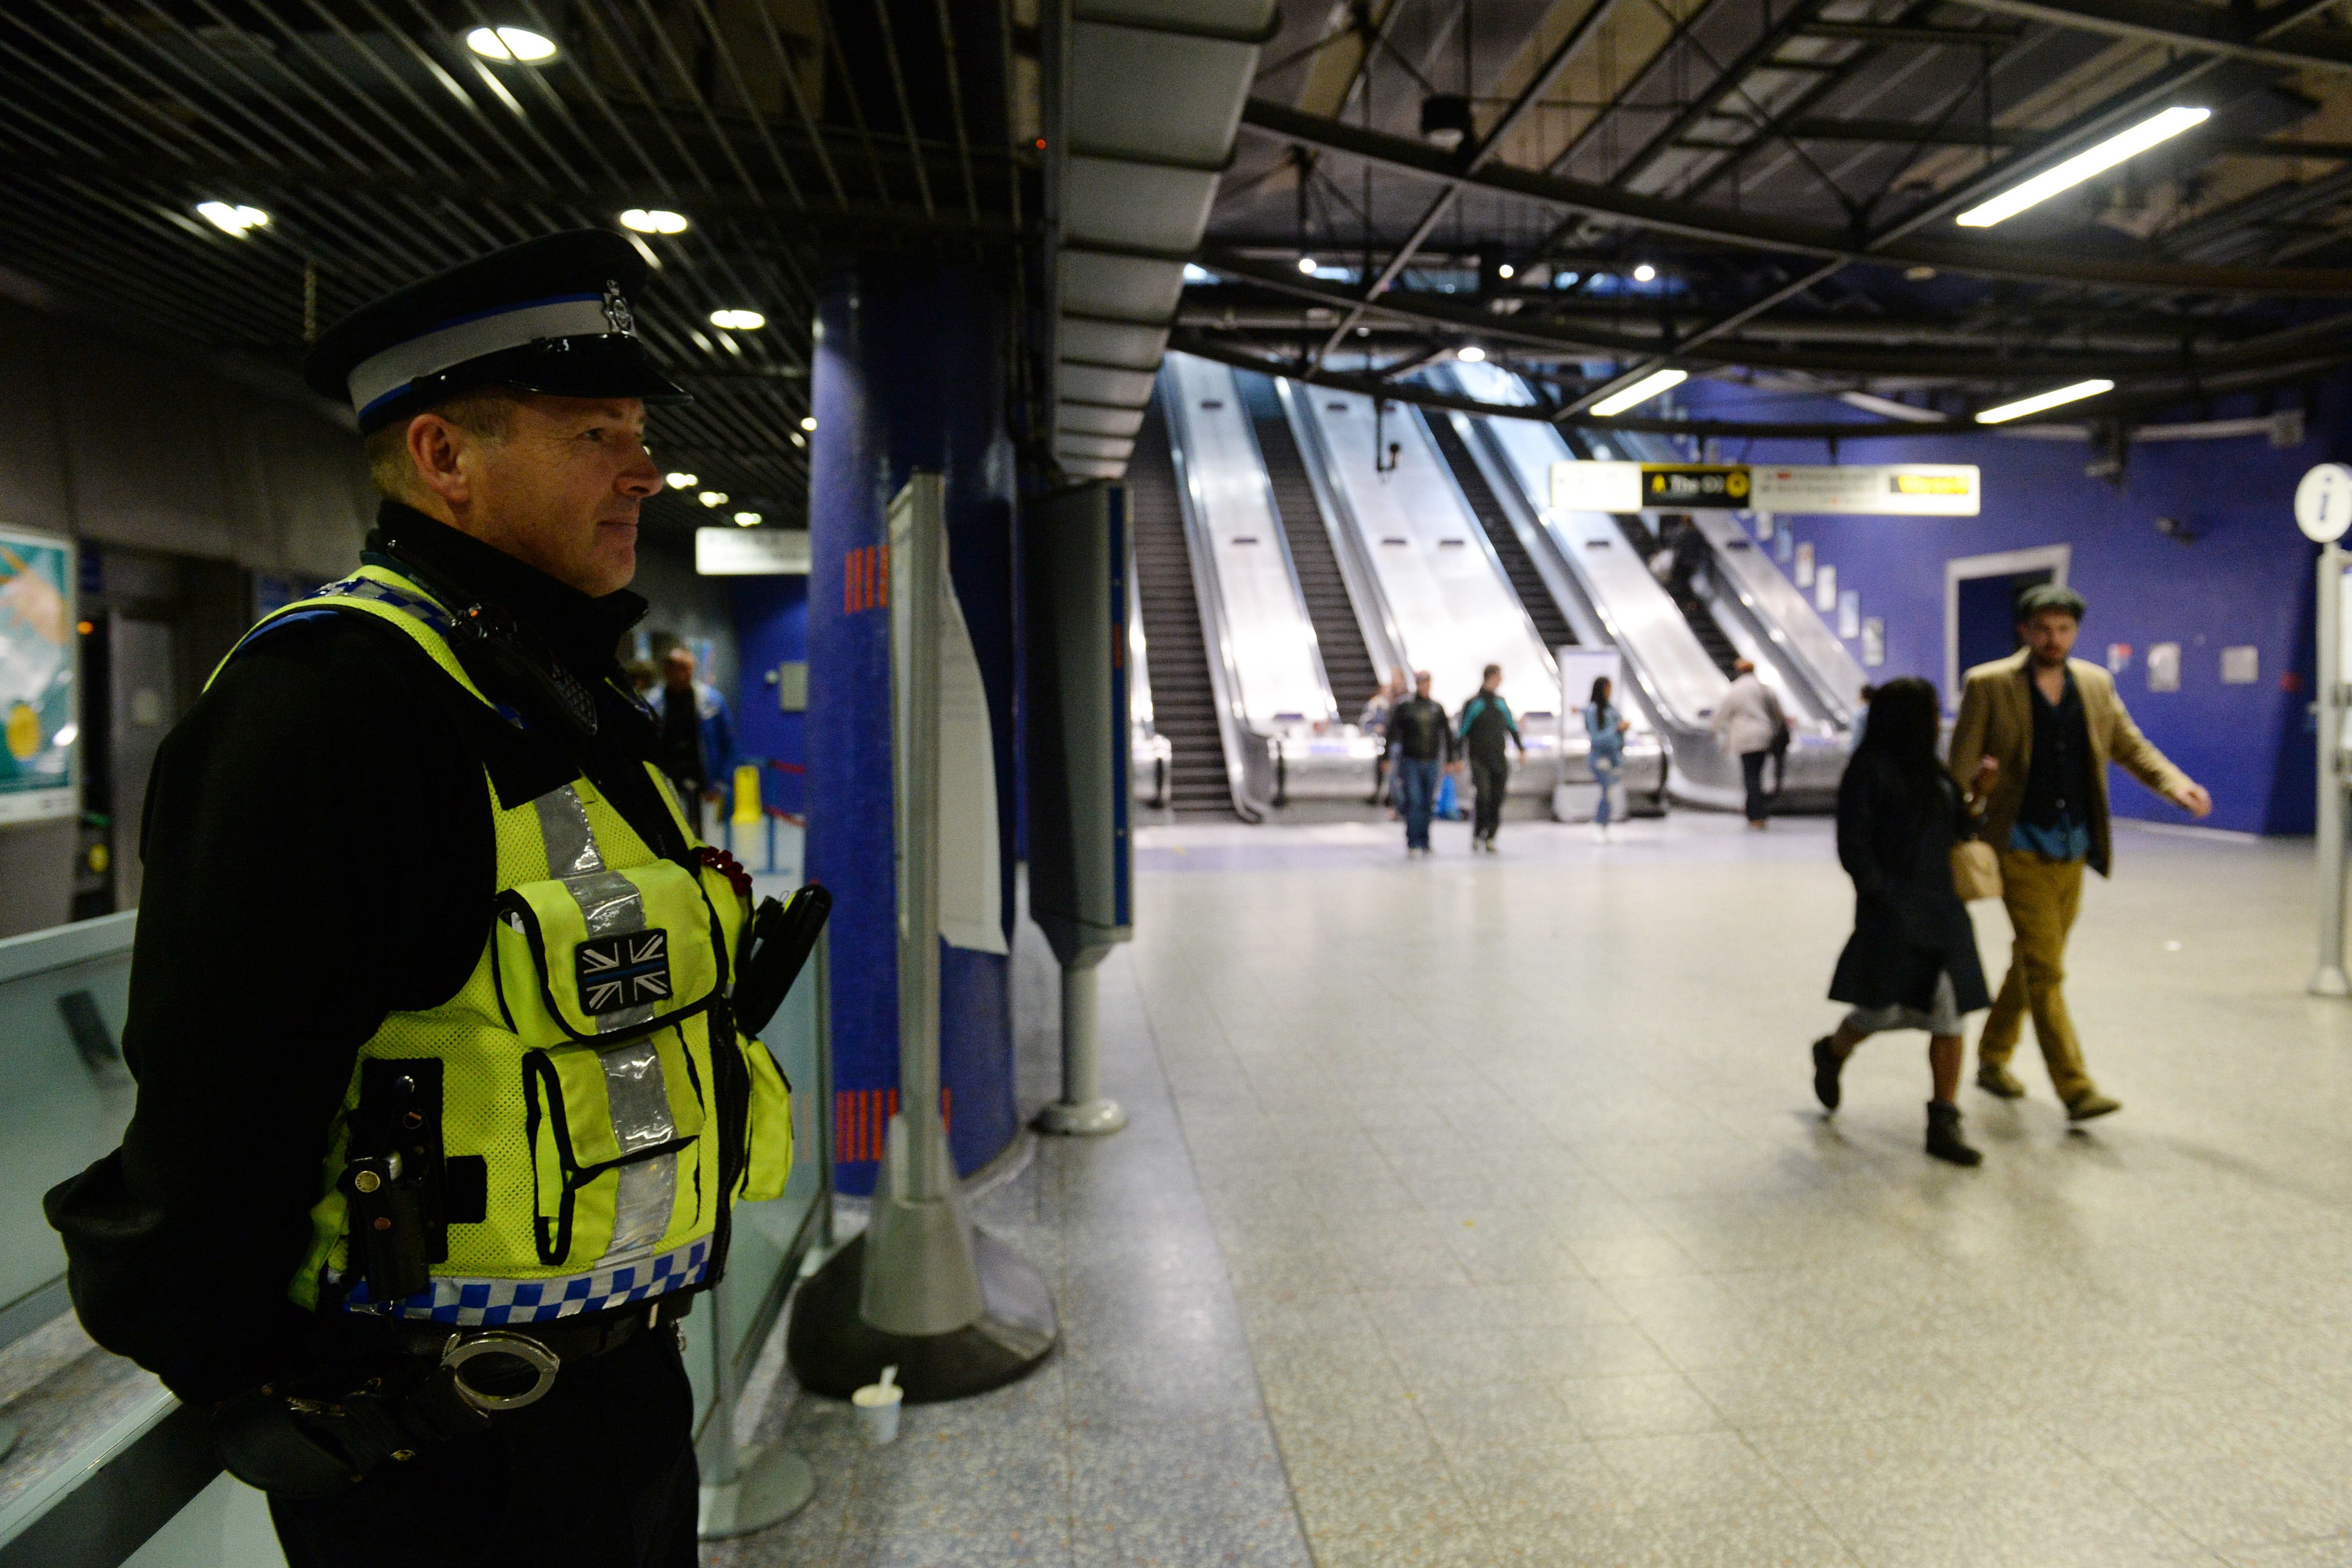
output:
<path id="1" fill-rule="evenodd" d="M 1856 752 L 1846 764 L 1837 785 L 1837 863 L 1853 877 L 1853 936 L 1837 957 L 1832 1001 L 1926 1011 L 1936 976 L 1950 971 L 1962 1013 L 1992 1006 L 1969 905 L 1952 891 L 1952 844 L 1971 832 L 1973 818 L 1943 769 L 1933 790 L 1931 802 L 1917 802 L 1877 752 Z"/>

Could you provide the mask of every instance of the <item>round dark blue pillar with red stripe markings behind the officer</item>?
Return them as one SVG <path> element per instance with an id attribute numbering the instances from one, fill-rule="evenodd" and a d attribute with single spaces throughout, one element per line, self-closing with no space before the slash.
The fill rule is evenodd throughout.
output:
<path id="1" fill-rule="evenodd" d="M 997 294 L 950 268 L 866 268 L 828 292 L 809 477 L 809 877 L 833 889 L 833 1072 L 842 1192 L 873 1192 L 877 1098 L 898 1084 L 889 769 L 889 604 L 870 592 L 884 508 L 915 470 L 948 477 L 948 564 L 988 691 L 997 849 L 1011 924 L 1014 461 Z M 884 578 L 887 581 L 887 574 Z M 941 1081 L 960 1171 L 1018 1131 L 1007 959 L 941 945 Z"/>

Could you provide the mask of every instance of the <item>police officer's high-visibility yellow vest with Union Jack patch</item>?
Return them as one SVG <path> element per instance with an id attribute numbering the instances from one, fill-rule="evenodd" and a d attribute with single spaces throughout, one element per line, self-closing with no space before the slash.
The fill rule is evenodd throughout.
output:
<path id="1" fill-rule="evenodd" d="M 388 567 L 287 604 L 247 642 L 320 609 L 386 621 L 499 710 L 449 644 L 452 614 Z M 644 769 L 699 849 L 670 783 Z M 722 1262 L 727 1208 L 779 1197 L 790 1175 L 788 1086 L 727 1006 L 748 900 L 708 865 L 656 856 L 586 776 L 501 806 L 485 773 L 485 806 L 499 898 L 482 957 L 454 997 L 390 1013 L 360 1046 L 310 1248 L 287 1286 L 303 1309 L 341 1300 L 459 1326 L 529 1324 L 682 1291 Z M 362 1081 L 386 1074 L 426 1100 L 437 1079 L 452 1194 L 430 1288 L 395 1302 L 369 1298 L 339 1190 Z"/>

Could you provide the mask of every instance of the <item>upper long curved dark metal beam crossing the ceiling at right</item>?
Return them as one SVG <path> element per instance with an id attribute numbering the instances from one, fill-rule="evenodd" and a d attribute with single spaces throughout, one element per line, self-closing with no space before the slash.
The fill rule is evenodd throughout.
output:
<path id="1" fill-rule="evenodd" d="M 1388 136 L 1364 127 L 1305 115 L 1287 103 L 1249 99 L 1242 125 L 1270 136 L 1301 141 L 1331 153 L 1364 158 L 1376 165 L 1421 174 L 1449 188 L 1477 188 L 1531 202 L 1616 219 L 1653 233 L 1705 240 L 1752 252 L 1785 252 L 1828 261 L 1872 261 L 1886 266 L 1933 266 L 1978 277 L 2013 277 L 2042 284 L 2096 284 L 2110 289 L 2150 289 L 2159 294 L 2270 294 L 2298 299 L 2352 296 L 2352 270 L 2333 268 L 2213 268 L 2176 261 L 2136 261 L 2072 256 L 2051 247 L 2004 244 L 1999 240 L 1915 240 L 1886 237 L 1856 242 L 1856 235 L 1820 223 L 1799 223 L 1762 214 L 1726 212 L 1698 202 L 1677 202 L 1590 181 L 1534 174 L 1512 165 L 1463 169 L 1437 148 Z M 1397 252 L 1404 256 L 1406 252 Z M 1402 273 L 1390 263 L 1390 275 Z M 1350 308 L 1369 301 L 1350 301 Z"/>

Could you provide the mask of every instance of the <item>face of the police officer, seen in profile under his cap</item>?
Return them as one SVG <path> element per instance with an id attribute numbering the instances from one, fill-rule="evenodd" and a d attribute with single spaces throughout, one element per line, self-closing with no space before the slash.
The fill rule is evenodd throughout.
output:
<path id="1" fill-rule="evenodd" d="M 459 527 L 581 592 L 628 588 L 637 505 L 661 491 L 640 400 L 524 393 L 506 440 L 456 435 L 456 482 L 435 489 Z"/>

